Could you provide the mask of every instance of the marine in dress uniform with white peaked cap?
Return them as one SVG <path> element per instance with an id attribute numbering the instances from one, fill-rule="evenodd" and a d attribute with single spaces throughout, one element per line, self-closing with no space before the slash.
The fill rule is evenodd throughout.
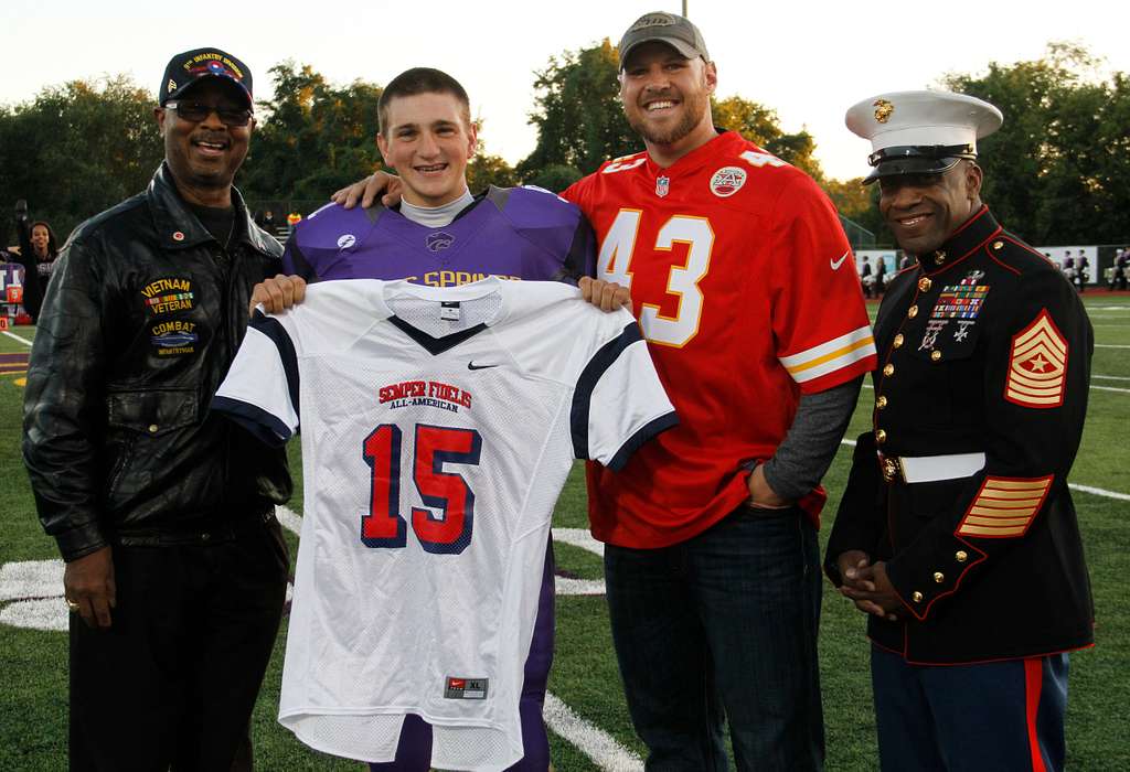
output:
<path id="1" fill-rule="evenodd" d="M 867 182 L 909 254 L 875 326 L 873 429 L 825 570 L 869 612 L 884 770 L 1061 770 L 1067 652 L 1094 611 L 1068 474 L 1090 322 L 981 203 L 976 140 L 1002 116 L 937 91 L 864 99 Z"/>

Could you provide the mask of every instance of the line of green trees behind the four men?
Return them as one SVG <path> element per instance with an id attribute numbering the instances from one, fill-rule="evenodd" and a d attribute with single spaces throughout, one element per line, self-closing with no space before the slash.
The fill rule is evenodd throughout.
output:
<path id="1" fill-rule="evenodd" d="M 617 51 L 608 41 L 551 56 L 533 73 L 533 151 L 516 166 L 481 151 L 468 168 L 472 191 L 487 184 L 563 190 L 641 142 L 617 95 Z M 377 84 L 330 84 L 310 65 L 270 69 L 275 94 L 257 102 L 259 126 L 236 179 L 257 201 L 324 201 L 328 193 L 383 168 Z M 1098 74 L 1085 49 L 1050 44 L 1035 61 L 991 63 L 949 73 L 939 86 L 986 99 L 1005 126 L 980 143 L 984 200 L 1035 244 L 1113 244 L 1130 238 L 1130 77 Z M 0 207 L 26 199 L 32 216 L 60 235 L 144 190 L 163 156 L 155 98 L 125 76 L 49 86 L 0 107 Z M 824 187 L 841 213 L 893 243 L 878 191 L 860 178 L 829 179 L 807 131 L 785 132 L 774 109 L 740 96 L 713 103 L 714 122 L 793 164 Z M 480 121 L 481 124 L 481 121 Z M 489 123 L 480 125 L 480 137 Z M 0 240 L 10 217 L 0 217 Z"/>

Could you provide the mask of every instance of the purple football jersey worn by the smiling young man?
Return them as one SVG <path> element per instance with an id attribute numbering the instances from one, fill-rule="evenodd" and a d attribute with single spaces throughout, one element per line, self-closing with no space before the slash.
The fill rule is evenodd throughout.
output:
<path id="1" fill-rule="evenodd" d="M 592 274 L 592 229 L 575 205 L 538 188 L 490 187 L 442 228 L 381 205 L 328 204 L 298 223 L 282 264 L 307 281 L 451 287 L 488 275 L 575 282 Z"/>

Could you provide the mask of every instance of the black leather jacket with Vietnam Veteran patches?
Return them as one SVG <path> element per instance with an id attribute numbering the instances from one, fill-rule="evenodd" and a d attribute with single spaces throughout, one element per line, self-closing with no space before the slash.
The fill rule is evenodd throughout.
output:
<path id="1" fill-rule="evenodd" d="M 24 460 L 64 560 L 261 516 L 290 495 L 282 451 L 208 413 L 251 289 L 282 253 L 233 200 L 225 249 L 162 166 L 63 247 L 32 349 Z"/>

